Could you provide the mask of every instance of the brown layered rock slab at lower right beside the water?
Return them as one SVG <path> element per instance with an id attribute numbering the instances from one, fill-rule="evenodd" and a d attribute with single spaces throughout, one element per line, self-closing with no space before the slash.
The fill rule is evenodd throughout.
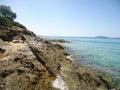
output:
<path id="1" fill-rule="evenodd" d="M 102 77 L 98 76 L 97 74 L 89 71 L 88 69 L 79 68 L 77 74 L 79 76 L 79 80 L 82 88 L 86 86 L 89 88 L 92 87 L 93 90 L 111 89 L 110 85 L 106 80 L 104 80 Z"/>

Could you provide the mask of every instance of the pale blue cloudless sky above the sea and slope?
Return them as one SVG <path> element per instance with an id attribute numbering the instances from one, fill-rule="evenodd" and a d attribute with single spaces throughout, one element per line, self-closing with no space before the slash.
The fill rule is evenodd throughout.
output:
<path id="1" fill-rule="evenodd" d="M 120 37 L 120 0 L 0 0 L 43 36 Z"/>

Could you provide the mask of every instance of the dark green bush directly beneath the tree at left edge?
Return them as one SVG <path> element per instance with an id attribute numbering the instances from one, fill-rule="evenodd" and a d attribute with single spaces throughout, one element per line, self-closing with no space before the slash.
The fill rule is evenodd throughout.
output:
<path id="1" fill-rule="evenodd" d="M 0 25 L 7 26 L 7 27 L 12 27 L 13 26 L 13 21 L 6 17 L 0 16 Z"/>

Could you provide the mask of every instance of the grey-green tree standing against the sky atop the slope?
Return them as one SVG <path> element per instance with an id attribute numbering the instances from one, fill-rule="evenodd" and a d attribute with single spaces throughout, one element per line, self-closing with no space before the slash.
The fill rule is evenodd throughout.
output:
<path id="1" fill-rule="evenodd" d="M 14 20 L 17 15 L 14 13 L 10 6 L 0 5 L 0 16 L 9 18 L 10 20 Z"/>

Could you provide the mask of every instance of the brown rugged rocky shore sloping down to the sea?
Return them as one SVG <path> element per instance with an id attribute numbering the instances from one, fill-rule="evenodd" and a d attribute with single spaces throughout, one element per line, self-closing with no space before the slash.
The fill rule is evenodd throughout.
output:
<path id="1" fill-rule="evenodd" d="M 76 68 L 64 47 L 53 42 L 0 26 L 0 90 L 115 90 L 101 76 Z"/>

